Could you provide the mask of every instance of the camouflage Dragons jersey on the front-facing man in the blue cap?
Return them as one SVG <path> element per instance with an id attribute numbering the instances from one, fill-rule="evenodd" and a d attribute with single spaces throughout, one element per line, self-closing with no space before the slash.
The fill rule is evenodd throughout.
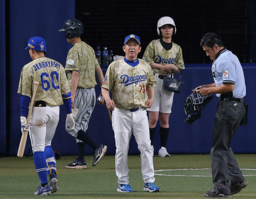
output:
<path id="1" fill-rule="evenodd" d="M 146 107 L 146 88 L 156 86 L 150 65 L 142 59 L 138 60 L 139 64 L 135 67 L 127 64 L 124 59 L 114 61 L 108 66 L 102 88 L 111 90 L 117 108 Z"/>

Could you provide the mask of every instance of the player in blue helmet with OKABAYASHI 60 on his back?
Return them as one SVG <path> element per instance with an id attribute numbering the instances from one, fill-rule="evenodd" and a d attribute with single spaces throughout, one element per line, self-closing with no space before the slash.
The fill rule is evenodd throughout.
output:
<path id="1" fill-rule="evenodd" d="M 56 160 L 51 142 L 59 122 L 59 105 L 63 102 L 67 109 L 67 130 L 72 130 L 75 125 L 71 111 L 71 93 L 63 66 L 45 57 L 45 40 L 41 37 L 32 37 L 26 48 L 29 48 L 33 61 L 26 64 L 20 74 L 18 93 L 21 131 L 29 131 L 35 169 L 40 179 L 40 186 L 37 187 L 39 190 L 34 195 L 50 195 L 58 190 Z M 28 106 L 33 95 L 34 82 L 39 82 L 39 85 L 28 125 Z"/>

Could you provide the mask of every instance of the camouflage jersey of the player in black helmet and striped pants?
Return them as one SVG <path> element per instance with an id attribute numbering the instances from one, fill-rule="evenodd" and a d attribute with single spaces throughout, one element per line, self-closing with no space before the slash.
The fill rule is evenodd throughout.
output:
<path id="1" fill-rule="evenodd" d="M 85 42 L 76 43 L 69 50 L 65 66 L 69 86 L 71 87 L 72 71 L 75 70 L 79 72 L 77 88 L 94 88 L 97 84 L 95 80 L 95 68 L 99 66 L 93 48 L 85 44 Z"/>

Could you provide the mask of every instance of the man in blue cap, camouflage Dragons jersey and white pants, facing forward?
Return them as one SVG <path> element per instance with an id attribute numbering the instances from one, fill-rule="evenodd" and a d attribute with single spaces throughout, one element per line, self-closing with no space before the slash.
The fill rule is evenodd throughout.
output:
<path id="1" fill-rule="evenodd" d="M 146 111 L 154 100 L 156 79 L 149 64 L 137 58 L 141 51 L 138 36 L 128 35 L 124 40 L 123 51 L 125 58 L 109 65 L 102 84 L 106 106 L 113 111 L 115 170 L 119 183 L 117 192 L 133 192 L 128 180 L 128 149 L 132 133 L 141 152 L 141 173 L 145 183 L 143 190 L 159 192 L 160 188 L 154 184 L 154 165 Z M 113 100 L 109 97 L 109 90 L 112 90 Z"/>

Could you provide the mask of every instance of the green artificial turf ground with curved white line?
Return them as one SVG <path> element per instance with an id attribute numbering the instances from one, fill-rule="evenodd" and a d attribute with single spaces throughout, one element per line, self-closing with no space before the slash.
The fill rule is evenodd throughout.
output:
<path id="1" fill-rule="evenodd" d="M 134 193 L 117 192 L 115 175 L 115 157 L 105 155 L 93 167 L 93 156 L 86 156 L 87 169 L 67 169 L 66 163 L 74 160 L 74 156 L 61 157 L 57 160 L 59 190 L 50 196 L 34 196 L 39 186 L 33 157 L 0 157 L 0 198 L 203 198 L 204 192 L 213 188 L 210 155 L 171 155 L 171 157 L 154 156 L 155 184 L 160 192 L 143 191 L 139 155 L 129 155 L 130 185 Z M 232 198 L 256 198 L 256 155 L 236 155 L 249 185 Z M 183 170 L 188 169 L 188 170 Z M 251 170 L 243 170 L 251 169 Z M 166 171 L 158 171 L 166 170 Z M 161 175 L 157 175 L 161 174 Z M 204 177 L 202 177 L 204 176 Z M 210 177 L 209 177 L 210 176 Z"/>

